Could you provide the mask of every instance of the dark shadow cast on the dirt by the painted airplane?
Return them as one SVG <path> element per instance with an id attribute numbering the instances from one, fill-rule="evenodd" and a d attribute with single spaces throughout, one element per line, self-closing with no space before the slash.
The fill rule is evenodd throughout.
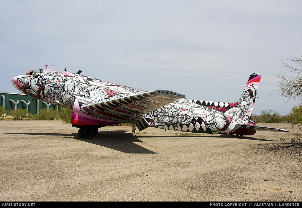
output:
<path id="1" fill-rule="evenodd" d="M 74 138 L 75 136 L 78 137 L 77 133 L 72 133 L 72 134 L 66 134 L 66 133 L 2 133 L 2 134 L 23 134 L 23 135 L 41 135 L 41 136 L 63 136 L 65 138 Z M 146 149 L 138 144 L 136 142 L 143 142 L 139 138 L 154 138 L 154 137 L 169 137 L 169 138 L 179 138 L 179 137 L 199 137 L 199 138 L 204 138 L 204 137 L 225 137 L 225 138 L 237 138 L 237 139 L 250 139 L 250 140 L 258 140 L 258 141 L 270 141 L 270 142 L 275 142 L 275 140 L 268 140 L 268 139 L 257 139 L 257 138 L 252 138 L 249 136 L 231 136 L 231 135 L 182 135 L 181 133 L 179 135 L 167 135 L 167 136 L 149 136 L 149 135 L 142 135 L 142 134 L 135 134 L 127 131 L 127 130 L 113 130 L 113 131 L 100 131 L 98 135 L 95 135 L 95 139 L 81 139 L 77 138 L 77 140 L 80 141 L 85 141 L 89 142 L 91 144 L 99 145 L 99 146 L 104 146 L 109 149 L 114 149 L 120 152 L 125 152 L 125 153 L 135 153 L 135 154 L 158 154 L 156 152 L 153 152 L 149 149 Z"/>

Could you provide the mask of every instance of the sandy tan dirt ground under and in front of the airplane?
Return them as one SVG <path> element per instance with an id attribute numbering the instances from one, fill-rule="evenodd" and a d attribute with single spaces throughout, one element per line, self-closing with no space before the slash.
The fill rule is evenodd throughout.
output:
<path id="1" fill-rule="evenodd" d="M 291 131 L 289 124 L 259 124 Z M 293 133 L 185 134 L 62 121 L 0 121 L 1 201 L 301 201 Z"/>

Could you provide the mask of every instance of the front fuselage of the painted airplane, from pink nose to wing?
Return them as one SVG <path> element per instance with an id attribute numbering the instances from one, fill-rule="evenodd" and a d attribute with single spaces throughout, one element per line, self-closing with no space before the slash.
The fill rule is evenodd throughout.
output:
<path id="1" fill-rule="evenodd" d="M 37 78 L 30 74 L 19 75 L 12 78 L 11 82 L 24 94 L 61 107 L 72 109 L 76 96 L 95 103 L 145 92 L 70 72 L 39 70 Z"/>

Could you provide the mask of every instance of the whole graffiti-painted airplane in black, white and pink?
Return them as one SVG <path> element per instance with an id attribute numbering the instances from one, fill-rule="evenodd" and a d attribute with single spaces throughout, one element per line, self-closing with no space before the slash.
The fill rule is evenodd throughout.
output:
<path id="1" fill-rule="evenodd" d="M 252 74 L 234 103 L 187 100 L 169 90 L 144 91 L 100 79 L 55 69 L 34 69 L 11 79 L 24 94 L 72 109 L 72 126 L 82 139 L 91 139 L 110 124 L 131 123 L 141 131 L 147 127 L 192 133 L 254 135 L 284 129 L 256 126 L 250 120 L 261 75 Z"/>

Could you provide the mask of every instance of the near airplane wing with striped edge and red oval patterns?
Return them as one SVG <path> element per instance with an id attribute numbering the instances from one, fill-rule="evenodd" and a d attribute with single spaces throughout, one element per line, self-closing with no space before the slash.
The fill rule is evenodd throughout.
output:
<path id="1" fill-rule="evenodd" d="M 121 123 L 136 123 L 142 119 L 144 114 L 179 100 L 180 98 L 185 98 L 185 96 L 172 91 L 155 90 L 83 105 L 81 110 L 99 118 Z"/>

